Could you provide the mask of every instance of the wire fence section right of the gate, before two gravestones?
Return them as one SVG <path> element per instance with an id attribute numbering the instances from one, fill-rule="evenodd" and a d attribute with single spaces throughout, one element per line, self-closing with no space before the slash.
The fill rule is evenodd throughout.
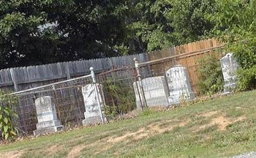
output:
<path id="1" fill-rule="evenodd" d="M 218 61 L 221 52 L 222 46 L 144 63 L 134 59 L 140 90 L 136 95 L 147 107 L 170 107 L 200 97 L 200 68 L 216 62 L 204 59 L 213 54 Z"/>

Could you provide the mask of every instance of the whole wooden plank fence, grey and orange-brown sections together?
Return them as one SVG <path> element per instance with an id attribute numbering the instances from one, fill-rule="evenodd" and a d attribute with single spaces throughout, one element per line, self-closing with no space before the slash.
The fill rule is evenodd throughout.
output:
<path id="1" fill-rule="evenodd" d="M 70 61 L 52 63 L 33 67 L 7 68 L 0 70 L 0 90 L 19 91 L 42 86 L 72 77 L 89 74 L 89 68 L 93 67 L 96 73 L 104 72 L 113 67 L 132 66 L 133 58 L 147 65 L 147 70 L 152 72 L 164 72 L 173 65 L 183 65 L 188 68 L 193 90 L 198 83 L 198 60 L 204 58 L 205 52 L 223 47 L 223 43 L 215 39 L 179 45 L 162 51 L 154 51 L 132 56 L 120 56 L 114 58 L 90 59 L 83 61 Z M 148 69 L 149 68 L 149 69 Z"/>

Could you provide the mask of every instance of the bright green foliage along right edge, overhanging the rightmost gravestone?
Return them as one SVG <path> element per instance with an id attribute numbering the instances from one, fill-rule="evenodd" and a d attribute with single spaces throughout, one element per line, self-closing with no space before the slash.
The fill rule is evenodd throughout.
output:
<path id="1" fill-rule="evenodd" d="M 214 32 L 228 42 L 227 52 L 234 52 L 239 70 L 239 90 L 255 88 L 256 65 L 256 1 L 218 0 L 218 12 L 210 15 L 216 23 Z"/>

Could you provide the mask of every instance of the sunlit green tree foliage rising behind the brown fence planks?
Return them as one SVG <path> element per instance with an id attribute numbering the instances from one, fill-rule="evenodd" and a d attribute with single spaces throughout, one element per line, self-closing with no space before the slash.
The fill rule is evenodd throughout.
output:
<path id="1" fill-rule="evenodd" d="M 200 40 L 214 28 L 205 14 L 215 12 L 214 0 L 130 1 L 127 28 L 138 39 L 141 51 L 154 51 Z"/>

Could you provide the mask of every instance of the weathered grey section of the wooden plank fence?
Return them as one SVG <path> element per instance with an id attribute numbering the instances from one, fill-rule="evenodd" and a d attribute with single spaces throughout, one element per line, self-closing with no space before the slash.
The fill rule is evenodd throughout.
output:
<path id="1" fill-rule="evenodd" d="M 143 62 L 148 61 L 148 54 L 141 53 L 114 58 L 70 61 L 33 67 L 7 68 L 0 70 L 0 90 L 26 90 L 73 77 L 79 77 L 81 75 L 87 75 L 90 74 L 90 67 L 93 67 L 96 73 L 104 72 L 113 67 L 134 67 L 134 57 Z"/>

